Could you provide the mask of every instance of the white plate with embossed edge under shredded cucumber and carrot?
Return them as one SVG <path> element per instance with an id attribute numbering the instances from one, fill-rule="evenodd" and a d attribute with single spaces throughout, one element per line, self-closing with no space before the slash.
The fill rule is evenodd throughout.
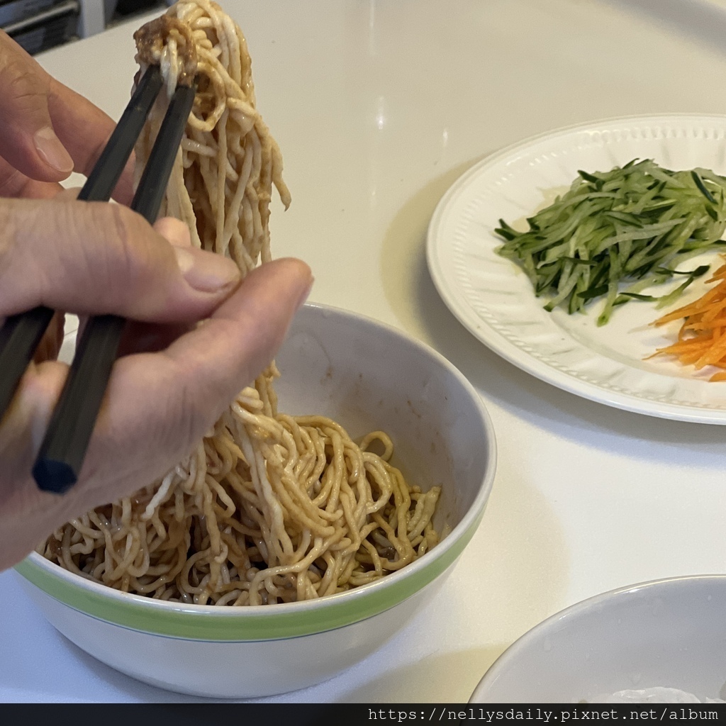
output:
<path id="1" fill-rule="evenodd" d="M 603 327 L 595 324 L 597 302 L 586 315 L 547 313 L 526 275 L 494 252 L 502 242 L 494 234 L 500 218 L 516 223 L 531 216 L 563 192 L 578 169 L 608 171 L 633 158 L 726 174 L 726 117 L 600 121 L 537 136 L 486 158 L 454 183 L 433 214 L 426 250 L 431 277 L 473 335 L 547 383 L 629 411 L 726 424 L 726 383 L 709 383 L 712 371 L 696 373 L 666 356 L 645 359 L 675 339 L 679 322 L 650 327 L 664 311 L 646 302 L 616 309 Z M 702 261 L 717 264 L 719 258 L 711 253 L 688 264 Z M 677 305 L 701 295 L 708 277 L 691 285 Z"/>

